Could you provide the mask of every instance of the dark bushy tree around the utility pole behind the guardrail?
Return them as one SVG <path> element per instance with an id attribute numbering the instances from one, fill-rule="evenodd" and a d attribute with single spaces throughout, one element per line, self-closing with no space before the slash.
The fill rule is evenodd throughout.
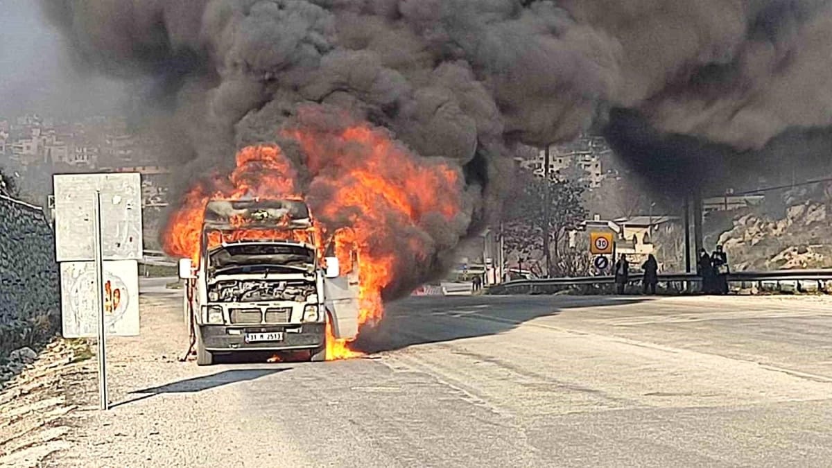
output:
<path id="1" fill-rule="evenodd" d="M 562 247 L 567 231 L 577 227 L 587 217 L 587 210 L 582 206 L 584 187 L 554 175 L 546 181 L 529 172 L 520 172 L 513 187 L 515 189 L 503 212 L 503 236 L 508 251 L 526 259 L 545 253 L 543 232 L 548 222 L 549 248 L 554 261 L 552 271 L 546 273 L 551 275 L 561 270 L 558 265 L 571 264 L 562 258 Z M 545 217 L 547 190 L 550 198 L 548 220 Z"/>

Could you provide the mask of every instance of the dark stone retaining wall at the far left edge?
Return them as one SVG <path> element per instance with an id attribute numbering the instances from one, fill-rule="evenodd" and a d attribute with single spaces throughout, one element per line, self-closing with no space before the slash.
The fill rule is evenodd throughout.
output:
<path id="1" fill-rule="evenodd" d="M 61 323 L 52 225 L 39 207 L 0 195 L 0 358 Z"/>

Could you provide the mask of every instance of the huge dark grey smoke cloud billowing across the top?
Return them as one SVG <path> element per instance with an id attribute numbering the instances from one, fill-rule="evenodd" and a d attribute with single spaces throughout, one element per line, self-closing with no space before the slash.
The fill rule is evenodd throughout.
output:
<path id="1" fill-rule="evenodd" d="M 705 180 L 731 166 L 725 157 L 753 160 L 786 130 L 832 123 L 832 3 L 820 0 L 43 7 L 78 62 L 151 83 L 173 110 L 180 144 L 171 159 L 189 171 L 228 166 L 246 144 L 280 142 L 275 129 L 297 122 L 302 105 L 338 109 L 463 169 L 473 197 L 463 235 L 499 207 L 507 147 L 567 141 L 599 117 L 636 168 L 652 174 L 647 162 L 661 162 L 656 174 L 683 186 L 692 179 L 674 177 L 685 168 Z M 680 145 L 686 151 L 673 151 Z"/>

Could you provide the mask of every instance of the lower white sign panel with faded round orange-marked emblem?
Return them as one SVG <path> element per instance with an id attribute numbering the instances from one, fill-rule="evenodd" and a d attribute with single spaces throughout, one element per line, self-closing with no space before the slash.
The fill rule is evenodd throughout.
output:
<path id="1" fill-rule="evenodd" d="M 98 336 L 93 261 L 61 264 L 64 338 Z M 108 336 L 139 334 L 139 273 L 135 260 L 104 261 L 104 317 Z"/>

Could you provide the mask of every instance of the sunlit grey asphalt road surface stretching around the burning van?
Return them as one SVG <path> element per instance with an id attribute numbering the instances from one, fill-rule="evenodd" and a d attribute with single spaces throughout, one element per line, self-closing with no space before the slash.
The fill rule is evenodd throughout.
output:
<path id="1" fill-rule="evenodd" d="M 832 301 L 414 297 L 369 358 L 197 368 L 153 291 L 55 466 L 832 463 Z"/>

